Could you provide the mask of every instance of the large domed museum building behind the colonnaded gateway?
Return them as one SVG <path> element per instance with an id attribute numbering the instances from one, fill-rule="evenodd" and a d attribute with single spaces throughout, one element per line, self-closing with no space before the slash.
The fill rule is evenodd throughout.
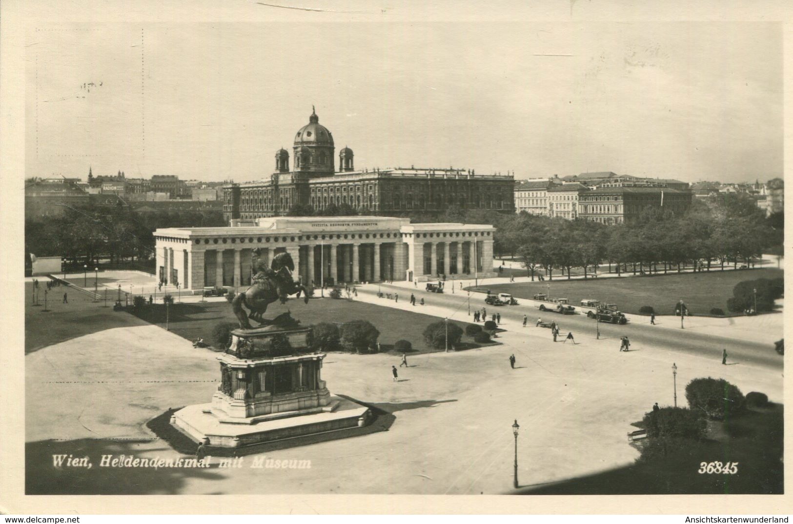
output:
<path id="1" fill-rule="evenodd" d="M 347 204 L 355 212 L 378 216 L 437 215 L 452 205 L 515 212 L 512 175 L 479 175 L 451 167 L 355 170 L 349 147 L 339 151 L 338 171 L 334 159 L 333 136 L 312 112 L 308 124 L 295 135 L 293 169 L 289 169 L 289 151 L 279 149 L 269 180 L 224 186 L 224 219 L 283 216 L 295 205 L 321 211 Z"/>

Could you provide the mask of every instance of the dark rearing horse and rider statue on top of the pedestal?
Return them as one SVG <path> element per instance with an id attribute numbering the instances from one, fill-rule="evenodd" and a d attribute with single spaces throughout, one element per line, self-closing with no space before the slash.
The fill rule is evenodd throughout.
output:
<path id="1" fill-rule="evenodd" d="M 289 253 L 276 254 L 269 268 L 266 262 L 259 258 L 260 254 L 261 251 L 254 250 L 251 261 L 251 273 L 253 273 L 251 286 L 232 300 L 232 311 L 239 319 L 239 327 L 243 329 L 251 329 L 249 319 L 254 319 L 259 324 L 265 323 L 262 315 L 266 312 L 267 306 L 276 300 L 281 300 L 281 303 L 285 304 L 289 295 L 297 293 L 297 298 L 300 298 L 303 293 L 305 303 L 308 304 L 305 286 L 293 280 L 292 272 L 295 265 Z M 243 307 L 251 312 L 250 315 Z"/>

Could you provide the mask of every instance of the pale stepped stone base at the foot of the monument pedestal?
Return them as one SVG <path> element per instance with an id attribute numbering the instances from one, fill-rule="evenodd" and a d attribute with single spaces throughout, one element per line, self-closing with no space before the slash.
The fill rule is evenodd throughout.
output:
<path id="1" fill-rule="evenodd" d="M 332 411 L 321 410 L 276 419 L 259 418 L 250 423 L 228 422 L 213 415 L 212 404 L 182 407 L 171 418 L 171 424 L 196 442 L 208 446 L 239 448 L 263 442 L 366 426 L 370 422 L 368 407 L 339 396 L 331 396 Z"/>

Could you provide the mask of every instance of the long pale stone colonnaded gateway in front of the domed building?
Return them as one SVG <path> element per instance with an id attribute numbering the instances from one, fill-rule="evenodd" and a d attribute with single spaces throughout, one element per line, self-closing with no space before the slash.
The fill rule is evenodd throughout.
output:
<path id="1" fill-rule="evenodd" d="M 184 289 L 251 284 L 251 258 L 287 252 L 306 285 L 493 277 L 493 232 L 481 224 L 411 224 L 406 218 L 332 216 L 232 220 L 228 228 L 155 231 L 163 283 Z"/>

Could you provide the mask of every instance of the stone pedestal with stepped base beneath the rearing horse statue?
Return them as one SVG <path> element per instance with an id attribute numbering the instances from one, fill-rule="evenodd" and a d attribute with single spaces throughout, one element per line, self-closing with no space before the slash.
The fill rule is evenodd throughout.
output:
<path id="1" fill-rule="evenodd" d="M 302 353 L 308 328 L 232 331 L 220 355 L 220 385 L 211 404 L 187 406 L 172 423 L 196 442 L 247 446 L 364 426 L 367 407 L 331 396 L 321 378 L 325 354 Z"/>

